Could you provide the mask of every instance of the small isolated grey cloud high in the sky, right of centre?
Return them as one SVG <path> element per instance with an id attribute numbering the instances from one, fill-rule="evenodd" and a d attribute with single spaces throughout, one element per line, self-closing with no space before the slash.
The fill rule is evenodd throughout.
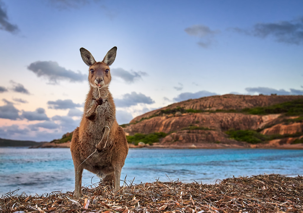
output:
<path id="1" fill-rule="evenodd" d="M 205 25 L 192 25 L 184 30 L 188 35 L 200 38 L 197 44 L 203 48 L 208 48 L 215 41 L 214 37 L 218 34 L 219 30 L 211 30 Z"/>

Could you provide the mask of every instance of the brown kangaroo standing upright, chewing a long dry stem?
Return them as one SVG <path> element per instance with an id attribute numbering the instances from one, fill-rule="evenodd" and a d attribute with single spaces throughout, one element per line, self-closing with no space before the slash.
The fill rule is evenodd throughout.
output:
<path id="1" fill-rule="evenodd" d="M 82 171 L 86 169 L 120 189 L 121 169 L 128 154 L 125 132 L 116 120 L 116 108 L 108 90 L 109 66 L 115 61 L 117 47 L 110 49 L 102 62 L 80 48 L 83 62 L 89 66 L 89 92 L 80 126 L 72 136 L 71 153 L 75 167 L 74 196 L 82 196 Z"/>

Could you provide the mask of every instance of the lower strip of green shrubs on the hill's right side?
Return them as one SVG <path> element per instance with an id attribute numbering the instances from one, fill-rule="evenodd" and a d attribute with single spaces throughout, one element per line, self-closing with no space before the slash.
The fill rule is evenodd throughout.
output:
<path id="1" fill-rule="evenodd" d="M 292 138 L 299 137 L 303 135 L 302 132 L 297 132 L 295 134 L 285 134 L 285 135 L 262 135 L 258 131 L 255 130 L 229 130 L 225 132 L 229 135 L 229 138 L 235 139 L 237 141 L 246 141 L 251 144 L 261 143 L 264 141 L 270 141 L 274 139 L 282 139 L 282 138 Z M 295 141 L 297 141 L 296 139 Z M 296 142 L 301 143 L 301 142 Z"/>

